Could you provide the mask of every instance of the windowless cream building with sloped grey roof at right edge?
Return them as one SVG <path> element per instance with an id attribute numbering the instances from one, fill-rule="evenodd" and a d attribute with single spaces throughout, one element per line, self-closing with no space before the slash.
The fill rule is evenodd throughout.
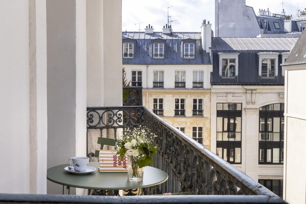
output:
<path id="1" fill-rule="evenodd" d="M 306 31 L 296 42 L 285 70 L 285 156 L 284 156 L 284 195 L 289 203 L 306 203 Z"/>

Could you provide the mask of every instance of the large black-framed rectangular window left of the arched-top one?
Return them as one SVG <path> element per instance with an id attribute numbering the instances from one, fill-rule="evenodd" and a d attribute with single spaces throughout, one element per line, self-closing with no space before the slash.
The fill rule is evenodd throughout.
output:
<path id="1" fill-rule="evenodd" d="M 216 153 L 231 164 L 241 164 L 241 103 L 217 103 Z"/>

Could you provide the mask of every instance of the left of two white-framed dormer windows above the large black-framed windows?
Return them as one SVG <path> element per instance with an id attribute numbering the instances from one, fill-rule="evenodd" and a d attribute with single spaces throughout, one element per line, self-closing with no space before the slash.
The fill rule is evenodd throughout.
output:
<path id="1" fill-rule="evenodd" d="M 234 78 L 238 75 L 237 53 L 219 53 L 219 74 L 222 78 Z"/>

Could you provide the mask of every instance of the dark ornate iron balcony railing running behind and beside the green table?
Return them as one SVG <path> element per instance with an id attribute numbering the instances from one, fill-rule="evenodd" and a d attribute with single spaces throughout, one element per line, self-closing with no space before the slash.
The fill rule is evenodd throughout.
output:
<path id="1" fill-rule="evenodd" d="M 166 171 L 169 179 L 166 183 L 157 186 L 153 191 L 154 194 L 191 192 L 193 195 L 216 195 L 214 198 L 216 203 L 224 200 L 224 197 L 220 195 L 247 195 L 238 196 L 242 199 L 239 203 L 247 203 L 244 199 L 257 195 L 256 199 L 261 201 L 256 203 L 285 203 L 267 188 L 153 114 L 146 107 L 88 107 L 87 118 L 88 134 L 89 131 L 95 131 L 96 135 L 91 134 L 96 137 L 116 137 L 118 129 L 138 125 L 145 125 L 151 132 L 158 135 L 156 145 L 159 151 L 154 157 L 154 166 Z M 93 151 L 89 148 L 89 155 Z M 144 189 L 144 193 L 148 192 L 152 192 L 152 189 Z M 199 199 L 202 198 L 204 199 L 199 197 Z M 181 199 L 183 201 L 186 198 L 182 196 Z M 227 203 L 238 202 L 229 199 Z"/>

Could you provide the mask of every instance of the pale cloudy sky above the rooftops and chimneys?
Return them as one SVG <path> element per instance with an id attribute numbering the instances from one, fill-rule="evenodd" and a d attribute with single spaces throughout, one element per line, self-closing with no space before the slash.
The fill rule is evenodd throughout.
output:
<path id="1" fill-rule="evenodd" d="M 122 0 L 122 31 L 141 31 L 150 24 L 154 31 L 162 31 L 171 16 L 173 32 L 201 32 L 203 19 L 209 20 L 214 30 L 214 0 Z M 283 3 L 283 4 L 282 4 Z M 259 9 L 296 18 L 297 9 L 306 8 L 305 0 L 246 0 L 255 14 Z M 168 8 L 169 7 L 169 8 Z M 170 18 L 169 18 L 170 20 Z"/>

